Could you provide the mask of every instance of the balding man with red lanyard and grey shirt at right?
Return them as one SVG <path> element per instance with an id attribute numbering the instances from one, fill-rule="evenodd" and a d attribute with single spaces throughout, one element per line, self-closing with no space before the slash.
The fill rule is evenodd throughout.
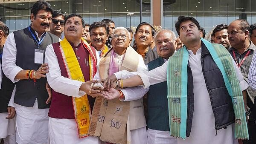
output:
<path id="1" fill-rule="evenodd" d="M 253 55 L 256 53 L 256 46 L 250 41 L 251 29 L 246 20 L 235 20 L 228 26 L 228 40 L 230 41 L 231 48 L 228 50 L 232 55 L 237 66 L 239 67 L 244 79 L 249 82 L 253 82 L 252 75 L 249 75 L 249 68 L 253 60 Z M 252 66 L 255 65 L 252 63 Z M 248 78 L 248 79 L 247 79 Z M 248 120 L 249 141 L 244 141 L 244 144 L 255 144 L 255 128 L 256 128 L 256 91 L 250 86 L 247 91 L 247 107 L 250 111 Z M 255 89 L 255 88 L 254 88 Z"/>

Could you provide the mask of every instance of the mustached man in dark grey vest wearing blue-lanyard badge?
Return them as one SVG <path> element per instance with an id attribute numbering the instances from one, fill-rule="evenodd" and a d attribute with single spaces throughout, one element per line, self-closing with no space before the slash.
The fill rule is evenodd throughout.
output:
<path id="1" fill-rule="evenodd" d="M 44 63 L 46 47 L 59 41 L 47 32 L 52 23 L 52 8 L 45 0 L 31 9 L 31 25 L 11 33 L 3 49 L 3 72 L 16 85 L 14 97 L 16 142 L 46 144 L 48 142 L 48 95 Z"/>

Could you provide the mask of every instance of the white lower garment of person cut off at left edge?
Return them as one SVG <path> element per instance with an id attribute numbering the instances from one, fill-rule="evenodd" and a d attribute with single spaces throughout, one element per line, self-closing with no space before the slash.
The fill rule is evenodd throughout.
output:
<path id="1" fill-rule="evenodd" d="M 4 144 L 16 144 L 14 119 L 6 119 L 7 112 L 0 113 L 0 141 Z"/>

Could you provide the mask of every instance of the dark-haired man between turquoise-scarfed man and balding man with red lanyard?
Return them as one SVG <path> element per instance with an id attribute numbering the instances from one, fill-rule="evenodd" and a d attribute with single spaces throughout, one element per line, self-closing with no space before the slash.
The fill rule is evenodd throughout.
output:
<path id="1" fill-rule="evenodd" d="M 229 49 L 231 46 L 228 40 L 227 28 L 227 24 L 221 23 L 215 27 L 212 35 L 214 35 L 214 43 L 222 44 L 226 49 Z"/>

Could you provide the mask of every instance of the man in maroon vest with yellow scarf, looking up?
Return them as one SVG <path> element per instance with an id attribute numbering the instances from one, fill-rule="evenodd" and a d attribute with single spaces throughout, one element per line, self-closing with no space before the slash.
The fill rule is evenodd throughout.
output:
<path id="1" fill-rule="evenodd" d="M 49 109 L 51 144 L 100 144 L 88 135 L 90 116 L 99 90 L 90 90 L 96 74 L 96 50 L 82 37 L 84 20 L 79 14 L 65 19 L 64 40 L 47 46 L 47 80 L 52 88 Z M 91 95 L 91 96 L 90 96 Z"/>

